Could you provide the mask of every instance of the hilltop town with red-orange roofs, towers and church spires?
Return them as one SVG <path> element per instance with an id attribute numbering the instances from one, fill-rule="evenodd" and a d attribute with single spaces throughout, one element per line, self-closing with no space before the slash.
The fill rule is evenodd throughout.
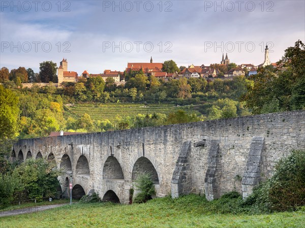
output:
<path id="1" fill-rule="evenodd" d="M 125 75 L 131 72 L 140 72 L 142 71 L 145 76 L 155 76 L 158 79 L 163 79 L 165 81 L 169 79 L 180 79 L 180 78 L 208 78 L 209 80 L 213 80 L 218 77 L 221 79 L 232 79 L 235 76 L 251 76 L 257 74 L 257 69 L 260 67 L 266 67 L 268 65 L 272 65 L 276 67 L 276 63 L 271 63 L 269 59 L 269 49 L 268 46 L 265 48 L 265 56 L 264 62 L 259 64 L 258 66 L 254 66 L 251 63 L 242 63 L 239 66 L 233 63 L 229 70 L 222 72 L 224 69 L 228 69 L 230 66 L 230 59 L 228 58 L 228 54 L 226 53 L 226 57 L 224 54 L 222 55 L 222 60 L 220 64 L 211 64 L 210 66 L 194 66 L 191 64 L 189 67 L 184 67 L 180 69 L 181 71 L 178 73 L 173 72 L 165 72 L 163 71 L 163 63 L 162 62 L 153 62 L 153 57 L 150 57 L 149 62 L 128 62 L 127 68 L 125 72 L 121 71 L 111 71 L 104 70 L 102 74 L 90 74 L 88 70 L 84 70 L 83 73 L 78 76 L 75 71 L 68 71 L 68 61 L 63 58 L 59 63 L 58 67 L 58 84 L 63 82 L 78 82 L 79 78 L 89 78 L 89 77 L 97 77 L 101 76 L 104 81 L 107 78 L 114 79 L 116 85 L 125 84 Z"/>

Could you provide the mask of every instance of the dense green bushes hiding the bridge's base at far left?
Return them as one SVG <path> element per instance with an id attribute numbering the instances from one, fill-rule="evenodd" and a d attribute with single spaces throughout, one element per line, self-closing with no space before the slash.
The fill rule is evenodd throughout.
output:
<path id="1" fill-rule="evenodd" d="M 0 173 L 0 207 L 5 208 L 13 201 L 59 197 L 60 174 L 55 162 L 49 160 L 26 159 L 18 166 L 7 162 Z"/>

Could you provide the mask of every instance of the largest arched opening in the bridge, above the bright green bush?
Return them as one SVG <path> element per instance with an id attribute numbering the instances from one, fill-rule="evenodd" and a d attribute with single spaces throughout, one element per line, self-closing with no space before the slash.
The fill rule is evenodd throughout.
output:
<path id="1" fill-rule="evenodd" d="M 151 161 L 146 157 L 140 157 L 132 169 L 132 181 L 135 181 L 139 174 L 150 173 L 154 184 L 159 184 L 158 173 Z"/>

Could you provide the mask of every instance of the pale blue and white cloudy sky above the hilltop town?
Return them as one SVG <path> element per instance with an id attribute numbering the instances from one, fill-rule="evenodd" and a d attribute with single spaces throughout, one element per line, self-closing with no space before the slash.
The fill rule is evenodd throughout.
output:
<path id="1" fill-rule="evenodd" d="M 271 62 L 305 40 L 305 1 L 0 1 L 0 68 L 65 57 L 79 75 L 128 62 Z"/>

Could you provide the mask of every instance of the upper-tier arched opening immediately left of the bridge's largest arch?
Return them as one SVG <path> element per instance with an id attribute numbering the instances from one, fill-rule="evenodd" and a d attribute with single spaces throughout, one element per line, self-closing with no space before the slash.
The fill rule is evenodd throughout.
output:
<path id="1" fill-rule="evenodd" d="M 114 156 L 109 156 L 105 161 L 103 179 L 124 179 L 122 168 Z"/>

